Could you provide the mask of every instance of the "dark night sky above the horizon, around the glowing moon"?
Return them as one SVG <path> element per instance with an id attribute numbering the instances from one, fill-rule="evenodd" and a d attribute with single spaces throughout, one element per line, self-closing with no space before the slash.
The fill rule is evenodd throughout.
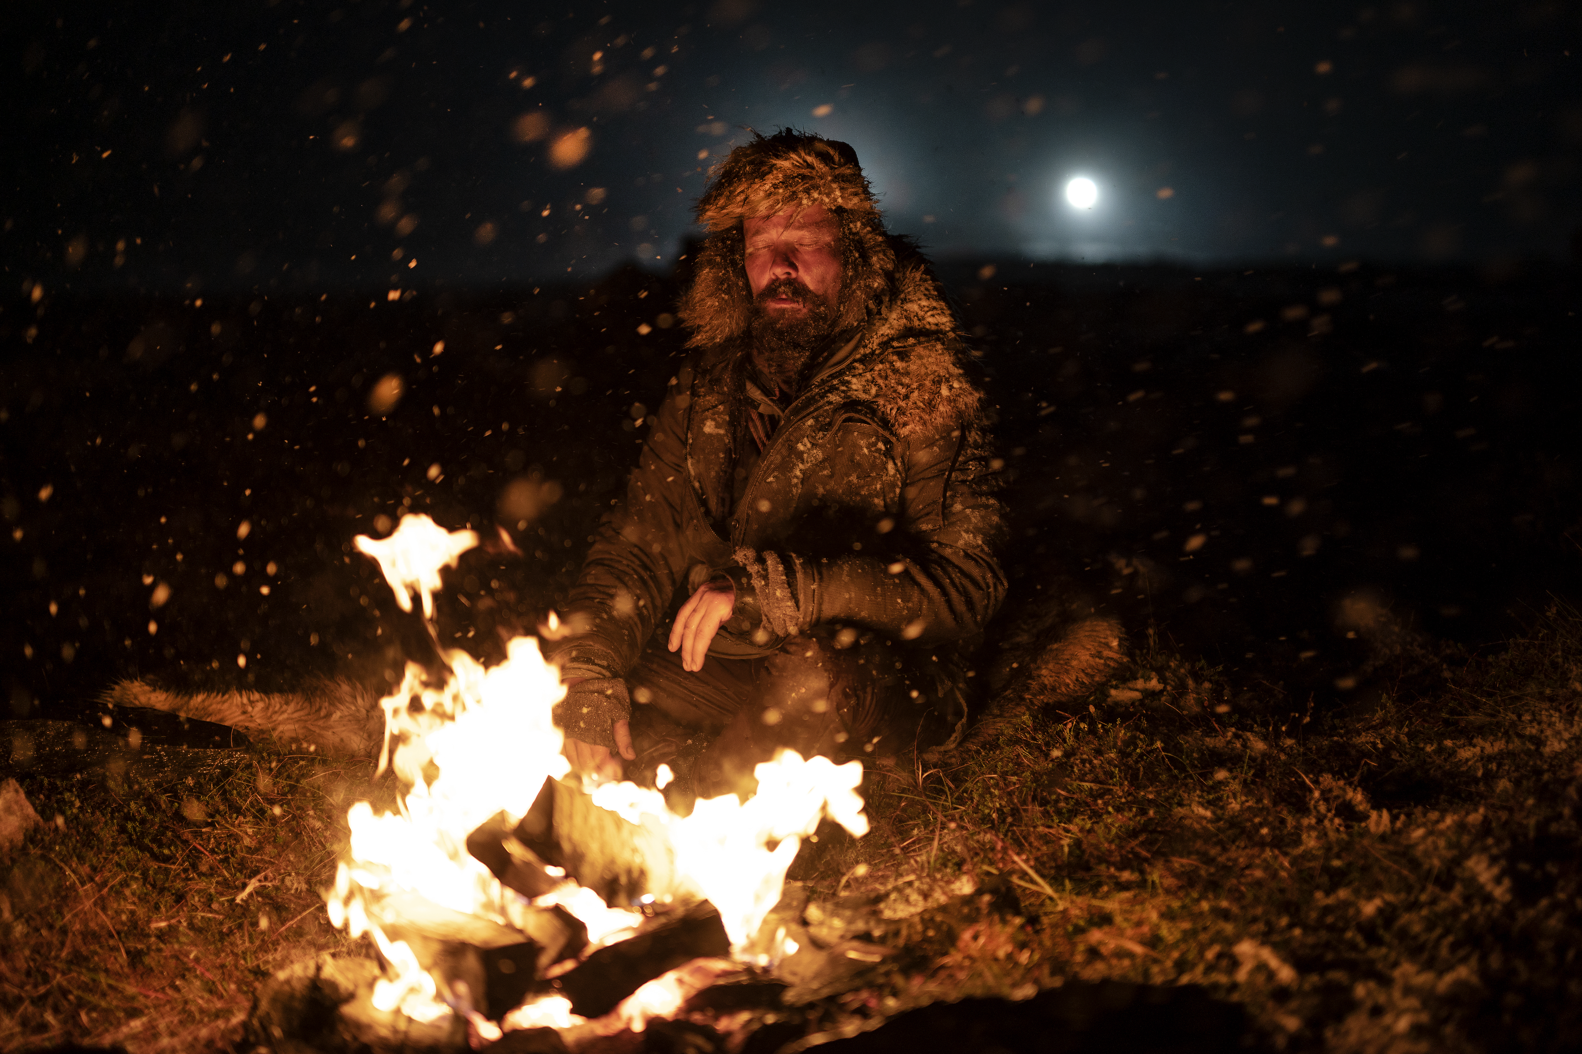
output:
<path id="1" fill-rule="evenodd" d="M 1498 265 L 1582 228 L 1566 3 L 6 6 L 0 265 L 51 291 L 668 270 L 782 125 L 941 258 Z"/>

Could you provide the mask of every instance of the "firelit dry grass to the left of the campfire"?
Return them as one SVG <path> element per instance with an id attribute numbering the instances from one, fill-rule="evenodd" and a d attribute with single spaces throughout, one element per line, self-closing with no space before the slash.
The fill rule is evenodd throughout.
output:
<path id="1" fill-rule="evenodd" d="M 182 754 L 22 777 L 60 820 L 0 861 L 0 1049 L 226 1049 L 261 978 L 345 945 L 318 890 L 372 766 Z"/>

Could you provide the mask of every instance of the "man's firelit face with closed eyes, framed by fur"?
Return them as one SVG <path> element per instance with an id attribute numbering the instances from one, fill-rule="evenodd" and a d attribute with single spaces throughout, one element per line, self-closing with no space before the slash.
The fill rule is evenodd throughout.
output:
<path id="1" fill-rule="evenodd" d="M 786 209 L 742 223 L 753 300 L 777 324 L 804 321 L 808 297 L 831 311 L 840 295 L 840 226 L 823 205 Z M 767 295 L 766 295 L 767 294 Z"/>

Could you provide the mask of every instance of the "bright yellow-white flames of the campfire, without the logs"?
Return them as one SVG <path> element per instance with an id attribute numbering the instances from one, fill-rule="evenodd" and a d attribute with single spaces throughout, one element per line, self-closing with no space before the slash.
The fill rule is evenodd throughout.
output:
<path id="1" fill-rule="evenodd" d="M 445 531 L 426 515 L 402 518 L 384 540 L 356 539 L 358 550 L 378 561 L 402 610 L 411 610 L 416 591 L 427 618 L 432 593 L 441 588 L 440 569 L 454 567 L 476 544 L 476 533 Z M 400 907 L 391 898 L 416 894 L 503 926 L 535 907 L 560 905 L 587 926 L 589 950 L 631 934 L 644 917 L 606 904 L 570 877 L 528 902 L 467 850 L 467 836 L 479 825 L 500 812 L 516 823 L 546 779 L 570 773 L 565 738 L 552 721 L 566 689 L 532 637 L 511 640 L 505 661 L 490 668 L 459 649 L 441 648 L 441 657 L 449 667 L 443 678 L 408 662 L 400 686 L 380 703 L 386 721 L 380 771 L 394 770 L 403 793 L 397 812 L 375 814 L 367 801 L 350 809 L 350 849 L 326 901 L 331 921 L 353 937 L 369 934 L 388 964 L 388 977 L 373 991 L 375 1007 L 399 1008 L 416 1021 L 460 1013 L 479 1035 L 492 1038 L 467 992 L 445 991 L 413 948 L 380 926 L 392 921 L 391 912 L 399 918 Z M 606 782 L 592 795 L 593 804 L 663 836 L 677 874 L 674 890 L 666 891 L 710 901 L 737 959 L 751 959 L 750 947 L 780 899 L 786 869 L 821 817 L 853 834 L 867 833 L 857 795 L 861 762 L 835 765 L 786 751 L 759 765 L 756 774 L 758 793 L 745 803 L 736 795 L 698 801 L 688 817 L 671 812 L 658 790 L 633 782 Z M 663 782 L 671 777 L 666 768 Z M 642 899 L 652 902 L 653 896 Z M 774 942 L 777 956 L 783 945 L 789 942 Z M 674 1014 L 718 977 L 720 967 L 707 962 L 694 961 L 644 984 L 614 1018 L 642 1030 L 653 1016 Z M 756 962 L 767 966 L 769 956 L 759 954 Z M 501 1021 L 506 1030 L 581 1024 L 563 997 L 538 999 Z"/>

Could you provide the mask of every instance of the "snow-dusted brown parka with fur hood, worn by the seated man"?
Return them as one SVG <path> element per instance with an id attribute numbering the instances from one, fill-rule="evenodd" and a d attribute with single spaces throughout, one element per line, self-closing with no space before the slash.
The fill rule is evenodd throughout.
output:
<path id="1" fill-rule="evenodd" d="M 807 204 L 840 221 L 840 322 L 799 392 L 775 401 L 748 379 L 740 218 Z M 568 597 L 557 662 L 568 678 L 623 678 L 696 588 L 729 577 L 736 616 L 710 656 L 815 637 L 959 727 L 957 656 L 1005 594 L 1003 521 L 982 393 L 938 283 L 884 234 L 845 144 L 758 137 L 717 171 L 699 213 L 715 232 L 680 307 L 693 352 Z M 756 458 L 744 455 L 755 400 L 778 420 Z M 609 743 L 623 710 L 582 697 L 557 717 Z"/>

